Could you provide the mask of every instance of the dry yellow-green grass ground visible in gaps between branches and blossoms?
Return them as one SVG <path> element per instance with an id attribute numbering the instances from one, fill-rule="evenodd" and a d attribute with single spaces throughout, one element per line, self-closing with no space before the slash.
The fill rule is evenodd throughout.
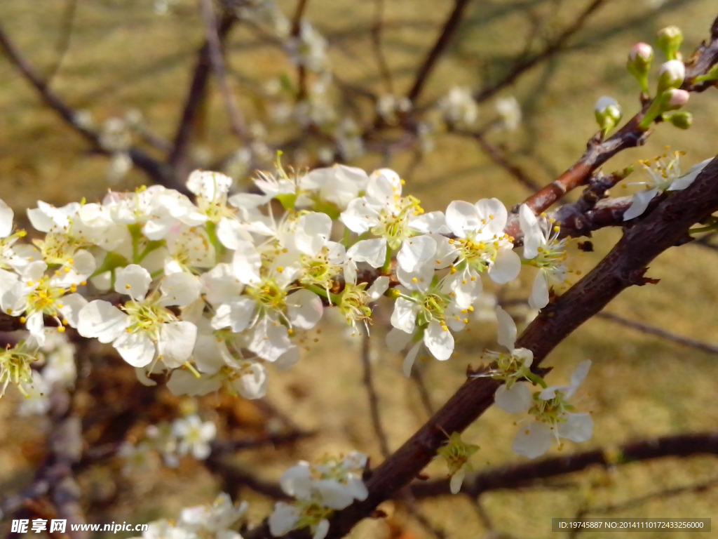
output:
<path id="1" fill-rule="evenodd" d="M 202 40 L 202 26 L 192 1 L 180 2 L 178 13 L 158 17 L 150 0 L 93 0 L 78 4 L 70 50 L 55 81 L 55 88 L 75 108 L 89 109 L 96 119 L 140 109 L 152 129 L 171 137 L 177 111 L 185 96 L 195 50 Z M 388 21 L 420 24 L 386 28 L 386 52 L 398 73 L 397 88 L 408 88 L 415 66 L 433 42 L 434 34 L 451 7 L 441 0 L 387 0 Z M 494 0 L 474 2 L 449 53 L 432 75 L 425 96 L 439 96 L 454 84 L 480 87 L 505 73 L 510 59 L 523 47 L 529 24 L 527 14 L 545 21 L 551 34 L 572 21 L 582 9 L 578 0 Z M 64 7 L 59 0 L 3 0 L 0 21 L 32 62 L 40 68 L 52 65 L 58 21 Z M 294 2 L 281 6 L 291 13 Z M 633 43 L 650 41 L 667 24 L 677 24 L 686 35 L 684 52 L 707 37 L 716 15 L 710 0 L 667 1 L 661 9 L 647 2 L 608 1 L 587 27 L 572 40 L 569 50 L 541 64 L 505 94 L 517 96 L 526 116 L 517 132 L 493 136 L 509 155 L 541 183 L 550 181 L 581 154 L 595 131 L 593 103 L 604 94 L 615 96 L 625 114 L 637 106 L 636 86 L 625 72 L 625 55 Z M 379 88 L 373 58 L 367 53 L 366 29 L 373 17 L 371 2 L 312 0 L 307 16 L 332 40 L 332 63 L 344 80 Z M 358 36 L 357 33 L 361 35 Z M 332 37 L 334 36 L 334 37 Z M 241 95 L 242 83 L 261 84 L 282 73 L 292 73 L 286 60 L 271 45 L 239 27 L 231 40 L 233 81 Z M 241 103 L 250 106 L 248 98 Z M 210 103 L 207 147 L 214 155 L 233 149 L 223 103 Z M 718 95 L 709 91 L 691 97 L 696 116 L 689 132 L 660 126 L 648 144 L 631 149 L 608 164 L 615 170 L 638 159 L 653 157 L 671 144 L 688 152 L 686 161 L 699 162 L 718 152 Z M 251 114 L 248 114 L 251 116 Z M 493 115 L 491 103 L 482 107 L 482 119 Z M 398 156 L 391 167 L 406 170 L 408 156 Z M 356 163 L 376 167 L 378 158 Z M 81 196 L 92 200 L 107 189 L 106 160 L 87 155 L 85 145 L 39 104 L 37 95 L 8 63 L 0 60 L 0 180 L 1 197 L 16 211 L 32 207 L 41 198 L 55 204 Z M 133 173 L 121 187 L 132 188 L 144 178 Z M 406 189 L 424 201 L 427 211 L 444 209 L 449 201 L 475 201 L 498 197 L 510 206 L 527 194 L 515 180 L 489 162 L 469 140 L 442 135 L 436 149 L 417 167 Z M 579 264 L 591 267 L 618 237 L 617 231 L 596 235 L 597 252 Z M 645 321 L 684 336 L 717 342 L 718 252 L 688 245 L 663 254 L 648 275 L 661 279 L 656 286 L 628 290 L 607 310 Z M 525 285 L 529 277 L 526 277 Z M 525 290 L 525 289 L 524 289 Z M 521 296 L 522 290 L 511 294 Z M 294 448 L 241 453 L 239 466 L 266 479 L 277 479 L 297 459 L 314 459 L 323 453 L 365 451 L 380 459 L 370 427 L 365 387 L 361 382 L 359 342 L 345 336 L 343 327 L 325 321 L 319 341 L 290 372 L 271 372 L 268 399 L 302 428 L 320 434 Z M 382 406 L 383 424 L 392 448 L 426 420 L 414 384 L 401 374 L 401 359 L 388 354 L 382 344 L 385 328 L 373 328 L 373 366 Z M 457 357 L 439 364 L 422 364 L 424 379 L 434 405 L 440 405 L 462 382 L 466 364 L 477 362 L 480 350 L 493 346 L 495 330 L 475 324 L 457 346 Z M 615 323 L 595 319 L 579 328 L 551 355 L 552 381 L 566 379 L 582 359 L 592 359 L 583 404 L 594 411 L 595 436 L 589 443 L 567 444 L 564 451 L 613 447 L 635 438 L 715 430 L 718 427 L 718 361 L 716 356 L 687 349 L 631 331 Z M 105 361 L 98 359 L 100 363 Z M 128 369 L 131 370 L 131 369 Z M 129 373 L 131 377 L 131 372 Z M 113 374 L 122 377 L 123 374 Z M 133 392 L 131 379 L 113 396 L 122 399 Z M 164 390 L 159 390 L 163 392 Z M 172 397 L 162 397 L 172 402 Z M 99 401 L 98 401 L 99 402 Z M 206 417 L 220 400 L 200 402 Z M 224 401 L 223 401 L 224 402 Z M 90 403 L 96 405 L 97 402 Z M 17 398 L 0 402 L 0 492 L 16 492 L 32 477 L 32 466 L 42 458 L 42 418 L 14 416 Z M 241 428 L 251 433 L 261 428 L 261 410 L 248 402 L 225 405 L 235 409 Z M 513 418 L 501 410 L 489 410 L 465 436 L 481 446 L 477 469 L 518 461 L 508 448 L 515 432 Z M 243 431 L 242 431 L 243 432 Z M 236 433 L 236 430 L 233 431 Z M 554 450 L 555 451 L 555 450 Z M 442 476 L 444 469 L 430 466 Z M 620 466 L 612 471 L 589 470 L 561 477 L 554 487 L 523 491 L 491 492 L 481 503 L 497 532 L 516 538 L 549 538 L 551 517 L 572 517 L 582 507 L 617 505 L 625 500 L 687 486 L 718 476 L 712 457 L 663 459 Z M 111 520 L 146 522 L 174 517 L 180 507 L 209 502 L 218 484 L 201 466 L 185 463 L 177 471 L 161 469 L 151 476 L 123 478 L 117 463 L 96 467 L 80 477 L 86 502 L 97 512 L 94 522 Z M 252 502 L 250 517 L 260 520 L 270 509 L 269 500 L 248 489 L 243 497 Z M 419 507 L 447 538 L 484 537 L 487 525 L 475 507 L 461 497 L 421 502 Z M 401 510 L 386 522 L 363 522 L 353 536 L 383 538 L 429 537 Z M 600 515 L 596 515 L 600 516 Z M 718 525 L 718 489 L 656 497 L 630 510 L 610 516 L 712 517 Z M 622 533 L 610 537 L 619 539 Z M 685 533 L 655 533 L 658 538 L 679 538 Z M 119 536 L 119 535 L 118 535 Z M 495 535 L 496 536 L 496 535 Z M 602 534 L 586 533 L 596 538 Z M 693 537 L 693 535 L 686 535 Z"/>

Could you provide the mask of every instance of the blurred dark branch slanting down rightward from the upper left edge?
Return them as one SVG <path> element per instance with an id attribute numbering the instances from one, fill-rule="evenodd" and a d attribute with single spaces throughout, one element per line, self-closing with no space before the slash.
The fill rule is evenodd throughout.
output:
<path id="1" fill-rule="evenodd" d="M 36 70 L 30 65 L 30 63 L 21 55 L 20 51 L 15 47 L 14 43 L 10 40 L 4 29 L 0 26 L 0 48 L 17 70 L 22 73 L 24 78 L 32 84 L 35 90 L 38 91 L 42 100 L 45 104 L 54 110 L 60 117 L 65 120 L 76 132 L 85 138 L 96 152 L 100 152 L 103 155 L 110 155 L 107 149 L 104 149 L 101 144 L 100 134 L 94 129 L 85 126 L 78 121 L 78 115 L 76 111 L 67 106 L 67 104 L 60 99 L 55 92 L 53 92 L 48 86 L 47 81 L 43 80 Z M 145 172 L 146 175 L 151 178 L 155 183 L 164 185 L 167 188 L 174 188 L 186 193 L 184 185 L 174 183 L 171 175 L 169 175 L 167 167 L 161 162 L 150 157 L 144 151 L 139 148 L 131 147 L 128 154 L 133 164 L 140 170 Z"/>

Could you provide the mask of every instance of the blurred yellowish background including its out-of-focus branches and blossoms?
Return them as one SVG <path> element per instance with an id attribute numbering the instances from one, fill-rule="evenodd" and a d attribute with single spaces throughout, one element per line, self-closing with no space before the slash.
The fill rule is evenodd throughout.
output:
<path id="1" fill-rule="evenodd" d="M 510 208 L 582 155 L 597 131 L 597 98 L 613 96 L 627 118 L 638 111 L 638 84 L 625 70 L 630 47 L 653 43 L 658 29 L 675 24 L 689 57 L 718 15 L 710 0 L 228 0 L 213 4 L 225 49 L 221 83 L 207 47 L 200 52 L 208 35 L 201 5 L 0 2 L 6 37 L 0 196 L 19 226 L 27 226 L 25 209 L 37 200 L 60 206 L 82 197 L 97 201 L 108 188 L 182 185 L 197 167 L 223 170 L 236 190 L 245 190 L 253 170 L 271 168 L 277 150 L 284 165 L 297 169 L 335 161 L 368 171 L 391 167 L 426 211 L 488 197 Z M 437 38 L 447 27 L 442 47 Z M 192 101 L 192 80 L 202 82 L 198 60 L 208 66 L 206 88 Z M 454 93 L 460 106 L 453 108 L 452 88 L 460 88 Z M 475 99 L 457 98 L 462 88 Z M 50 95 L 62 106 L 49 106 Z M 695 116 L 691 129 L 659 125 L 645 146 L 603 170 L 651 159 L 666 146 L 686 152 L 686 170 L 715 155 L 715 92 L 694 94 L 686 109 Z M 452 116 L 456 110 L 460 115 Z M 191 121 L 181 121 L 183 111 Z M 637 170 L 628 181 L 642 175 Z M 577 255 L 574 267 L 589 270 L 618 237 L 619 230 L 599 231 L 595 252 Z M 663 254 L 648 272 L 658 285 L 624 292 L 607 307 L 609 316 L 586 323 L 545 361 L 554 367 L 550 383 L 567 381 L 579 361 L 593 361 L 581 406 L 595 419 L 592 441 L 568 442 L 547 457 L 594 449 L 615 456 L 631 441 L 718 433 L 718 247 L 710 241 Z M 521 329 L 532 315 L 522 303 L 532 279 L 527 272 L 523 287 L 488 288 L 487 305 L 505 302 Z M 452 395 L 467 364 L 479 364 L 482 349 L 496 346 L 489 308 L 477 314 L 450 361 L 421 361 L 417 376 L 406 379 L 402 359 L 383 344 L 390 309 L 378 305 L 366 346 L 343 321 L 322 321 L 296 367 L 270 372 L 260 401 L 224 394 L 187 400 L 162 384 L 143 387 L 111 349 L 93 345 L 73 390 L 85 442 L 75 478 L 88 522 L 174 518 L 181 507 L 211 502 L 221 490 L 250 502 L 249 520 L 258 522 L 271 510 L 281 472 L 298 459 L 356 449 L 381 461 L 367 362 L 393 450 Z M 1 497 L 27 489 L 47 458 L 52 421 L 22 402 L 14 390 L 0 400 Z M 117 454 L 121 443 L 144 439 L 148 425 L 193 413 L 217 425 L 216 443 L 234 445 L 215 446 L 207 461 L 186 457 L 176 467 L 158 457 L 136 469 Z M 481 447 L 478 473 L 526 463 L 510 452 L 512 422 L 491 409 L 467 431 L 465 441 Z M 715 456 L 616 460 L 574 474 L 527 477 L 479 497 L 387 502 L 388 517 L 362 522 L 353 536 L 549 538 L 551 517 L 718 519 Z M 446 471 L 435 463 L 426 473 L 441 478 Z M 0 525 L 0 532 L 8 529 L 7 522 Z"/>

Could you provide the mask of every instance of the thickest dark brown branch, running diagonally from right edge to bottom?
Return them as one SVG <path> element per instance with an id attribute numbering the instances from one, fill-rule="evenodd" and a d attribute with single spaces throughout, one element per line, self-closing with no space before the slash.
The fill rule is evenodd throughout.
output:
<path id="1" fill-rule="evenodd" d="M 620 292 L 645 284 L 647 265 L 658 254 L 680 243 L 694 223 L 717 209 L 718 158 L 704 168 L 689 188 L 671 195 L 643 221 L 625 231 L 623 239 L 594 270 L 541 311 L 516 346 L 533 351 L 534 364 L 538 366 L 564 338 Z M 337 512 L 327 537 L 342 537 L 384 499 L 411 482 L 446 441 L 444 432 L 462 432 L 471 425 L 493 404 L 498 386 L 493 379 L 468 379 L 431 420 L 378 466 L 368 479 L 367 499 Z"/>

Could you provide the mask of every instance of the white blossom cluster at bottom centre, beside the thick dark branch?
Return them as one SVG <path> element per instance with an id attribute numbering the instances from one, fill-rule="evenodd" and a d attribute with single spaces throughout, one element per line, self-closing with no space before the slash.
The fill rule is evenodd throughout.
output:
<path id="1" fill-rule="evenodd" d="M 341 459 L 325 457 L 317 464 L 299 461 L 285 471 L 279 481 L 281 488 L 296 501 L 276 503 L 269 517 L 271 534 L 279 537 L 290 530 L 309 528 L 314 539 L 323 539 L 333 511 L 368 496 L 362 481 L 366 466 L 367 456 L 353 451 Z"/>

